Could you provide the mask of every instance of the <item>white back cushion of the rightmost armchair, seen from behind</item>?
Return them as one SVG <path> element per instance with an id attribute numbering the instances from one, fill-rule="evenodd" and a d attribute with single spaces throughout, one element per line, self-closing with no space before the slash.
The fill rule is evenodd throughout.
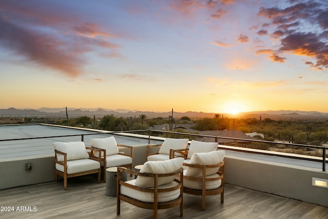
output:
<path id="1" fill-rule="evenodd" d="M 189 164 L 198 164 L 198 165 L 215 165 L 223 161 L 224 151 L 211 151 L 207 153 L 194 153 L 190 159 Z M 206 168 L 206 175 L 212 175 L 219 170 L 218 168 Z M 192 177 L 201 177 L 202 169 L 196 167 L 187 167 L 186 171 L 187 176 Z"/>

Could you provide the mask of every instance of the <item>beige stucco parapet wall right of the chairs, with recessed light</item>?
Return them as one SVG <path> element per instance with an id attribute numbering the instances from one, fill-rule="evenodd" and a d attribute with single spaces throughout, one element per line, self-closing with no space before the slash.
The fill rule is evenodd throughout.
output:
<path id="1" fill-rule="evenodd" d="M 313 177 L 328 179 L 319 162 L 240 153 L 226 150 L 225 183 L 328 207 L 328 188 L 312 185 Z"/>

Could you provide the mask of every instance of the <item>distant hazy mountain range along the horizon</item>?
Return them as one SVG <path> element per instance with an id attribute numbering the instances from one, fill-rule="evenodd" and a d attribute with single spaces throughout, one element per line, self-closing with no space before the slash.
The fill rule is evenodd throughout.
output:
<path id="1" fill-rule="evenodd" d="M 157 117 L 169 117 L 172 115 L 172 111 L 168 112 L 150 112 L 150 111 L 139 111 L 139 110 L 127 110 L 127 109 L 103 109 L 103 108 L 67 108 L 69 117 L 80 117 L 80 116 L 96 116 L 103 117 L 104 115 L 113 114 L 115 116 L 123 117 L 138 117 L 140 114 L 146 114 L 148 118 Z M 268 110 L 268 111 L 252 111 L 252 112 L 241 112 L 238 115 L 229 113 L 206 113 L 206 112 L 173 112 L 173 117 L 179 118 L 182 116 L 188 116 L 190 118 L 204 118 L 214 117 L 215 114 L 220 114 L 221 117 L 230 118 L 326 118 L 328 119 L 328 113 L 317 112 L 317 111 L 298 111 L 298 110 Z M 0 116 L 20 116 L 20 117 L 66 117 L 66 108 L 39 108 L 39 109 L 0 109 Z"/>

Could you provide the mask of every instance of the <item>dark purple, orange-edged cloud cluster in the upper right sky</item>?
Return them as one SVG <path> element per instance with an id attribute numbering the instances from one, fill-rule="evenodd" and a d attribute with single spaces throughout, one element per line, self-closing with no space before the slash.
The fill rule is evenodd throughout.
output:
<path id="1" fill-rule="evenodd" d="M 296 2 L 284 9 L 260 8 L 258 16 L 267 18 L 276 30 L 271 34 L 279 39 L 281 45 L 269 54 L 274 62 L 285 62 L 277 53 L 289 53 L 311 57 L 316 62 L 304 62 L 317 70 L 328 69 L 328 11 L 325 3 L 316 1 Z M 313 28 L 304 32 L 303 25 L 309 24 Z M 313 32 L 312 32 L 313 31 Z"/>

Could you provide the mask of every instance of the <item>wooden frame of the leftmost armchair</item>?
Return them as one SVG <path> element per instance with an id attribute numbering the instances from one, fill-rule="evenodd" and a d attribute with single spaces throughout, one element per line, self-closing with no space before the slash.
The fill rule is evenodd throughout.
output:
<path id="1" fill-rule="evenodd" d="M 86 147 L 86 149 L 91 150 L 91 155 L 90 159 L 94 161 L 98 161 L 100 164 L 100 158 L 93 156 L 93 151 L 98 149 L 91 148 L 91 147 Z M 58 161 L 57 159 L 57 154 L 64 155 L 64 161 Z M 55 168 L 55 182 L 58 182 L 58 175 L 64 178 L 64 190 L 67 190 L 67 178 L 74 177 L 74 176 L 80 176 L 80 175 L 88 175 L 92 173 L 98 173 L 98 183 L 100 183 L 100 172 L 101 172 L 101 166 L 99 169 L 96 170 L 89 170 L 89 171 L 84 171 L 84 172 L 79 172 L 79 173 L 73 173 L 73 174 L 68 174 L 67 173 L 67 153 L 55 150 L 55 164 L 60 164 L 64 166 L 64 172 L 61 172 Z"/>

